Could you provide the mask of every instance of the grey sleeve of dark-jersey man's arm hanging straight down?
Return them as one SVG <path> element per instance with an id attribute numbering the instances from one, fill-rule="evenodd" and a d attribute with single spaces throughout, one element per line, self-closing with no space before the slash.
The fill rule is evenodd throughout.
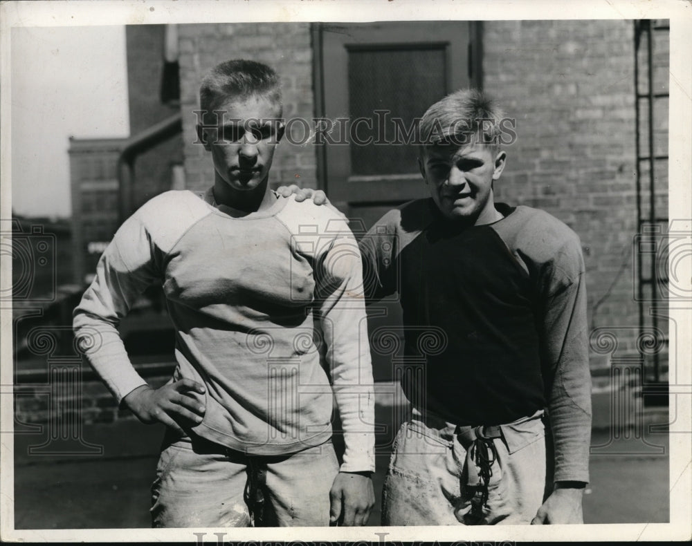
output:
<path id="1" fill-rule="evenodd" d="M 540 319 L 543 375 L 555 451 L 554 481 L 589 481 L 591 376 L 579 238 L 549 267 Z"/>

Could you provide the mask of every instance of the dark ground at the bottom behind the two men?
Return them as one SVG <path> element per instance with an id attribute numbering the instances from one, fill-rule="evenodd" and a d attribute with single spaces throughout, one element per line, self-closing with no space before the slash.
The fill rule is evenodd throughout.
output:
<path id="1" fill-rule="evenodd" d="M 594 398 L 594 424 L 607 423 L 608 401 Z M 378 407 L 378 422 L 392 408 Z M 665 411 L 647 412 L 650 423 L 667 422 Z M 379 435 L 386 444 L 390 431 Z M 149 527 L 149 484 L 154 478 L 163 428 L 134 420 L 84 426 L 82 438 L 102 446 L 85 453 L 78 442 L 53 442 L 50 449 L 71 451 L 48 455 L 29 453 L 43 444 L 40 433 L 15 436 L 15 528 L 85 529 Z M 664 523 L 668 520 L 668 435 L 630 431 L 613 438 L 605 426 L 594 429 L 590 460 L 592 481 L 584 497 L 586 523 Z M 384 437 L 383 437 L 384 436 Z M 43 448 L 45 451 L 46 448 Z M 34 447 L 36 451 L 36 447 Z M 42 451 L 39 448 L 38 451 Z M 380 495 L 389 454 L 376 460 L 377 505 L 370 525 L 380 523 Z"/>

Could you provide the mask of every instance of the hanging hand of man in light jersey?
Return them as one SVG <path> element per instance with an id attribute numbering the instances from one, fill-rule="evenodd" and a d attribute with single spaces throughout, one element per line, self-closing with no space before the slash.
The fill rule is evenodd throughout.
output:
<path id="1" fill-rule="evenodd" d="M 375 491 L 370 476 L 361 473 L 339 472 L 329 491 L 331 509 L 329 521 L 344 527 L 367 525 L 370 510 L 375 505 Z"/>

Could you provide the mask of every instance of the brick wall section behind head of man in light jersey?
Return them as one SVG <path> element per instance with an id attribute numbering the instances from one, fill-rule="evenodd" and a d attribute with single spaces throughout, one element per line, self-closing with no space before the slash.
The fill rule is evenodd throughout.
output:
<path id="1" fill-rule="evenodd" d="M 313 117 L 312 49 L 309 23 L 234 23 L 179 27 L 181 111 L 185 142 L 185 180 L 190 189 L 209 187 L 212 162 L 197 140 L 199 83 L 207 71 L 228 59 L 252 59 L 274 68 L 282 79 L 284 117 Z M 312 147 L 279 144 L 269 175 L 273 187 L 297 183 L 316 187 Z"/>

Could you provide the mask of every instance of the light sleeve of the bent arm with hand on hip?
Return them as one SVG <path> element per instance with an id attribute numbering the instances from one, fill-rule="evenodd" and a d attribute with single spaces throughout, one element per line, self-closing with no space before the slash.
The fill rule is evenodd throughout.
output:
<path id="1" fill-rule="evenodd" d="M 136 216 L 118 229 L 96 266 L 96 276 L 73 314 L 75 336 L 89 364 L 118 403 L 145 380 L 132 366 L 118 323 L 156 279 L 152 245 Z"/>

